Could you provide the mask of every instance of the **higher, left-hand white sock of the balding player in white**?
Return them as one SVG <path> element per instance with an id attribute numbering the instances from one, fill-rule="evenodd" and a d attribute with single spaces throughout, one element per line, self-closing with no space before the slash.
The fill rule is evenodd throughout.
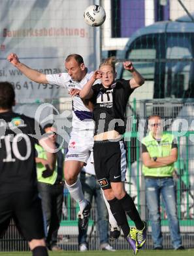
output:
<path id="1" fill-rule="evenodd" d="M 69 194 L 79 204 L 80 211 L 82 212 L 83 209 L 86 207 L 87 201 L 84 199 L 80 179 L 77 179 L 77 181 L 73 185 L 68 185 L 66 181 L 65 184 L 67 186 L 67 189 L 69 190 Z"/>

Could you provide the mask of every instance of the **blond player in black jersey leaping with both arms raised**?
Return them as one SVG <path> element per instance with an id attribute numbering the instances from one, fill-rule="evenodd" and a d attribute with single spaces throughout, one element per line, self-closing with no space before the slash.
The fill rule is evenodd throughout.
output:
<path id="1" fill-rule="evenodd" d="M 116 80 L 115 59 L 106 59 L 84 85 L 80 97 L 93 102 L 95 174 L 117 223 L 136 254 L 146 242 L 146 223 L 140 219 L 135 203 L 125 191 L 127 161 L 122 135 L 129 96 L 144 83 L 144 78 L 130 61 L 123 62 L 123 67 L 131 72 L 130 80 Z M 96 79 L 101 79 L 101 83 L 93 85 Z M 129 227 L 125 213 L 136 228 Z"/>

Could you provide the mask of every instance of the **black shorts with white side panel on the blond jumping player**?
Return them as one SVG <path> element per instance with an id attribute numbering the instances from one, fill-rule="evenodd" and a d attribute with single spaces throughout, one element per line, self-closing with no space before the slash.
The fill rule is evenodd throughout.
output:
<path id="1" fill-rule="evenodd" d="M 126 150 L 123 140 L 95 141 L 93 145 L 95 175 L 101 188 L 111 188 L 110 182 L 125 181 L 127 170 Z"/>

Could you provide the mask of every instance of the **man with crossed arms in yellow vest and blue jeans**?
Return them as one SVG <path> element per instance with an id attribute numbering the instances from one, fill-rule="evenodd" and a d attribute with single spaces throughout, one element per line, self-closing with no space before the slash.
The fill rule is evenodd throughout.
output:
<path id="1" fill-rule="evenodd" d="M 154 249 L 163 249 L 161 217 L 159 212 L 160 196 L 167 211 L 170 235 L 174 249 L 184 249 L 180 236 L 180 226 L 176 213 L 176 195 L 172 173 L 178 150 L 174 136 L 163 133 L 160 116 L 148 119 L 150 133 L 142 139 L 142 173 L 146 184 L 146 202 L 152 224 Z"/>

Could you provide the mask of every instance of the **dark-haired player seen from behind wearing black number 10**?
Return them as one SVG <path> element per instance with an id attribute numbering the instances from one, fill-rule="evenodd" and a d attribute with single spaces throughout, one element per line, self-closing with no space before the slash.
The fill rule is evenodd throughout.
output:
<path id="1" fill-rule="evenodd" d="M 45 148 L 48 169 L 54 170 L 55 145 L 35 119 L 12 112 L 15 93 L 0 82 L 0 237 L 13 218 L 29 242 L 33 256 L 48 255 L 41 200 L 37 191 L 35 142 Z M 43 135 L 43 136 L 42 136 Z"/>

